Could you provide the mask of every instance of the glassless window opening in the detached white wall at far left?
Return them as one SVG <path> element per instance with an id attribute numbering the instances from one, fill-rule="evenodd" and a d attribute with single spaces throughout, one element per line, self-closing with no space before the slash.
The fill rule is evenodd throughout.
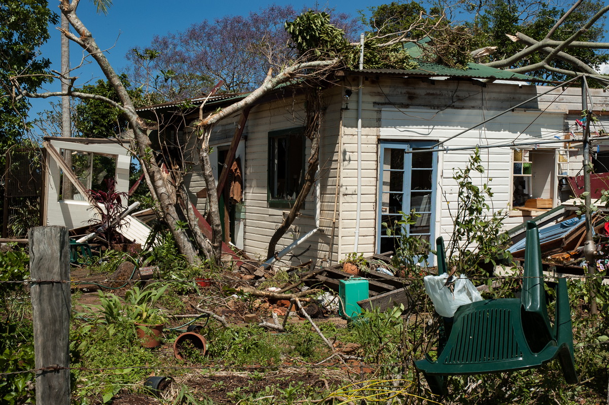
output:
<path id="1" fill-rule="evenodd" d="M 116 176 L 116 155 L 63 149 L 63 159 L 85 189 L 107 191 L 105 180 Z M 61 174 L 59 200 L 86 200 L 63 173 Z"/>

